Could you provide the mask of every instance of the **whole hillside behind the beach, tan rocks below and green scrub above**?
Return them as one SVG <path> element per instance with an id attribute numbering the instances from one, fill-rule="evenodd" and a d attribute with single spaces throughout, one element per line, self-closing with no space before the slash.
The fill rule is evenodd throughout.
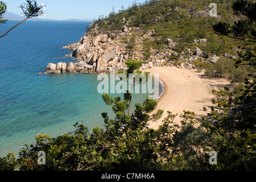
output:
<path id="1" fill-rule="evenodd" d="M 213 2 L 217 4 L 217 16 L 211 17 L 209 5 Z M 250 46 L 212 31 L 219 20 L 234 20 L 231 2 L 134 2 L 126 10 L 115 13 L 113 9 L 105 18 L 100 15 L 87 25 L 89 31 L 78 43 L 65 48 L 72 49 L 70 56 L 85 61 L 96 72 L 113 67 L 126 69 L 127 59 L 143 61 L 145 69 L 157 65 L 195 68 L 194 62 L 215 63 L 220 57 L 235 57 L 243 46 Z"/>

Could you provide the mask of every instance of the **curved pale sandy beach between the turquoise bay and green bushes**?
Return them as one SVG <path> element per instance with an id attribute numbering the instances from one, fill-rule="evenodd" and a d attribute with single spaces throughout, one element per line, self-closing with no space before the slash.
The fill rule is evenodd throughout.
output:
<path id="1" fill-rule="evenodd" d="M 181 69 L 177 67 L 154 67 L 145 70 L 153 74 L 159 74 L 159 80 L 165 85 L 165 92 L 158 100 L 157 108 L 164 110 L 163 116 L 158 122 L 150 122 L 149 127 L 158 129 L 162 125 L 162 120 L 167 117 L 167 111 L 178 114 L 174 122 L 178 123 L 183 110 L 194 111 L 197 115 L 206 114 L 203 107 L 210 108 L 213 104 L 211 99 L 214 94 L 213 89 L 223 88 L 229 85 L 229 81 L 224 78 L 207 78 L 194 69 Z M 150 113 L 150 114 L 153 114 Z"/>

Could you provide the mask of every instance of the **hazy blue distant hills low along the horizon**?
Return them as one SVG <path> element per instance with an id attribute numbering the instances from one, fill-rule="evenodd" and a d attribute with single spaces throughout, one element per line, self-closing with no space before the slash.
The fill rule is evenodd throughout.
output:
<path id="1" fill-rule="evenodd" d="M 17 15 L 11 12 L 3 14 L 4 19 L 8 20 L 23 20 L 25 16 Z M 54 19 L 42 19 L 42 18 L 30 18 L 28 21 L 57 21 L 57 22 L 93 22 L 93 19 L 66 19 L 66 20 L 54 20 Z"/>

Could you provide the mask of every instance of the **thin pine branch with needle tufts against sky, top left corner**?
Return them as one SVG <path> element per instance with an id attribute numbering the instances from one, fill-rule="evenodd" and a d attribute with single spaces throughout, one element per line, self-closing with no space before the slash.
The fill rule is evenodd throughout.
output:
<path id="1" fill-rule="evenodd" d="M 19 26 L 19 24 L 25 22 L 27 19 L 32 18 L 32 17 L 37 17 L 42 14 L 42 11 L 43 11 L 42 9 L 43 9 L 43 7 L 45 7 L 45 5 L 38 5 L 37 2 L 34 0 L 33 1 L 26 0 L 26 2 L 27 3 L 23 3 L 23 5 L 19 6 L 22 9 L 23 14 L 25 14 L 26 18 L 24 20 L 22 20 L 22 22 L 16 24 L 12 28 L 10 28 L 10 30 L 5 32 L 5 34 L 1 35 L 0 38 L 7 35 L 11 30 L 13 30 L 13 28 Z M 0 6 L 0 21 L 6 22 L 6 20 L 2 19 L 2 14 L 6 12 L 6 5 L 2 1 L 0 2 L 0 5 L 1 5 Z"/>

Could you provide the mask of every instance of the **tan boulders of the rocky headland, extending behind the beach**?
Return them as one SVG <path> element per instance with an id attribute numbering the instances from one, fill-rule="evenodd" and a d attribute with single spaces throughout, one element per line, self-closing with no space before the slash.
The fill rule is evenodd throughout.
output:
<path id="1" fill-rule="evenodd" d="M 142 69 L 163 66 L 175 66 L 178 68 L 196 69 L 195 60 L 201 62 L 215 63 L 219 56 L 205 56 L 197 44 L 207 44 L 207 39 L 195 39 L 195 47 L 186 48 L 183 51 L 176 51 L 175 43 L 171 38 L 165 39 L 163 48 L 150 48 L 148 54 L 150 59 L 145 59 L 145 40 L 154 41 L 154 30 L 145 32 L 139 27 L 130 27 L 129 21 L 122 19 L 122 30 L 102 31 L 98 24 L 88 32 L 77 43 L 68 44 L 63 48 L 71 50 L 70 57 L 76 57 L 75 63 L 49 63 L 45 73 L 102 73 L 116 71 L 126 71 L 126 61 L 136 59 L 143 61 Z M 161 37 L 157 38 L 161 39 Z M 132 44 L 132 46 L 131 46 Z M 131 48 L 132 47 L 132 48 Z M 223 55 L 225 57 L 231 55 Z M 173 59 L 175 57 L 175 59 Z"/>

